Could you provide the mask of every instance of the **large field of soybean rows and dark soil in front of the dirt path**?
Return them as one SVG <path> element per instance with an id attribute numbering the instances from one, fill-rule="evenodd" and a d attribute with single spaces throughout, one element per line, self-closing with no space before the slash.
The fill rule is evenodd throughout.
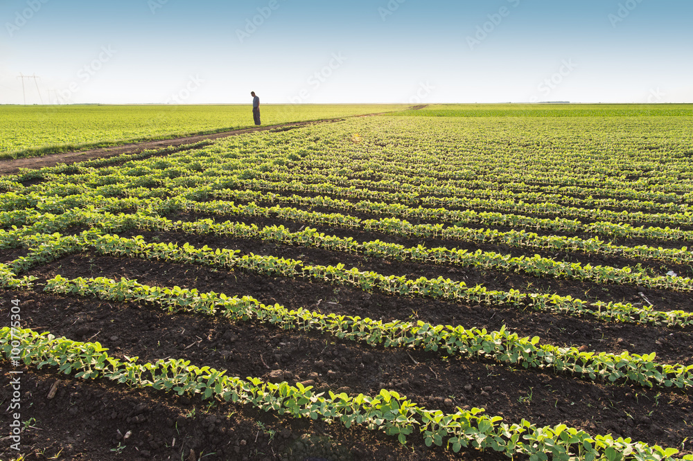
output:
<path id="1" fill-rule="evenodd" d="M 635 135 L 591 154 L 597 168 L 584 152 L 599 139 L 545 124 L 611 138 L 617 123 L 466 123 L 349 120 L 3 177 L 1 365 L 21 397 L 3 386 L 0 399 L 21 404 L 19 453 L 692 453 L 685 138 L 667 132 L 662 171 L 652 150 L 633 154 Z M 511 129 L 506 150 L 468 153 Z M 427 207 L 433 186 L 469 208 Z"/>

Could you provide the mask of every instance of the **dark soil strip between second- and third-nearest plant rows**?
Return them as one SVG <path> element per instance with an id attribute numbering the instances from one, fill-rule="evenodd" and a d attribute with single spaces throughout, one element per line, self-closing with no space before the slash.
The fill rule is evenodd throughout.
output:
<path id="1" fill-rule="evenodd" d="M 421 320 L 433 325 L 463 325 L 466 328 L 500 329 L 503 325 L 520 336 L 539 336 L 545 343 L 560 346 L 587 345 L 590 350 L 620 354 L 657 353 L 663 363 L 693 364 L 693 332 L 690 330 L 604 323 L 588 316 L 575 318 L 514 307 L 482 307 L 457 302 L 390 296 L 328 283 L 267 277 L 207 266 L 173 264 L 89 253 L 69 255 L 29 272 L 44 282 L 55 275 L 65 278 L 121 277 L 159 287 L 195 288 L 228 296 L 253 296 L 265 304 L 279 303 L 289 309 L 310 309 L 391 320 Z"/>

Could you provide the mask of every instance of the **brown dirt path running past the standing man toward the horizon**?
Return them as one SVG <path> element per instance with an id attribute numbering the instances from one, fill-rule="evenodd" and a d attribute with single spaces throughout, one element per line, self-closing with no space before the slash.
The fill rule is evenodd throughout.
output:
<path id="1" fill-rule="evenodd" d="M 410 109 L 423 109 L 426 105 L 410 107 Z M 363 114 L 354 117 L 372 117 L 387 114 L 387 112 L 379 112 L 378 114 Z M 286 131 L 313 125 L 315 123 L 334 123 L 345 120 L 349 117 L 341 118 L 326 118 L 324 120 L 313 120 L 308 122 L 284 123 L 282 125 L 270 125 L 266 127 L 254 127 L 245 129 L 234 129 L 230 132 L 220 132 L 211 134 L 199 134 L 195 136 L 186 136 L 184 138 L 160 139 L 157 141 L 143 141 L 141 143 L 130 143 L 122 145 L 114 145 L 110 147 L 99 147 L 98 149 L 83 150 L 80 152 L 64 152 L 63 154 L 49 154 L 42 157 L 26 157 L 24 159 L 0 160 L 0 175 L 15 174 L 19 172 L 19 168 L 39 169 L 47 166 L 57 165 L 58 163 L 82 162 L 91 159 L 107 158 L 121 154 L 138 154 L 147 149 L 161 149 L 163 147 L 178 147 L 185 144 L 198 143 L 205 140 L 214 140 L 226 138 L 227 136 L 236 136 L 238 134 L 270 131 Z"/>

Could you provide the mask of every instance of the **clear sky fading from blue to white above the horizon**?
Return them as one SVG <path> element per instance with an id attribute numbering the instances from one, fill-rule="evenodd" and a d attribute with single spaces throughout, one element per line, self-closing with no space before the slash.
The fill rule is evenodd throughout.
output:
<path id="1" fill-rule="evenodd" d="M 0 103 L 20 73 L 29 104 L 36 83 L 44 102 L 693 102 L 691 0 L 3 0 L 0 19 Z"/>

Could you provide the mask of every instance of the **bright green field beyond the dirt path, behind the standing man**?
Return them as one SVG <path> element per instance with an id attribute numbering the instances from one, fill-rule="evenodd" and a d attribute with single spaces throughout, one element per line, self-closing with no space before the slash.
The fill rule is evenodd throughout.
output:
<path id="1" fill-rule="evenodd" d="M 263 105 L 263 125 L 405 109 L 406 105 Z M 250 105 L 0 106 L 0 158 L 37 156 L 254 126 Z"/>

